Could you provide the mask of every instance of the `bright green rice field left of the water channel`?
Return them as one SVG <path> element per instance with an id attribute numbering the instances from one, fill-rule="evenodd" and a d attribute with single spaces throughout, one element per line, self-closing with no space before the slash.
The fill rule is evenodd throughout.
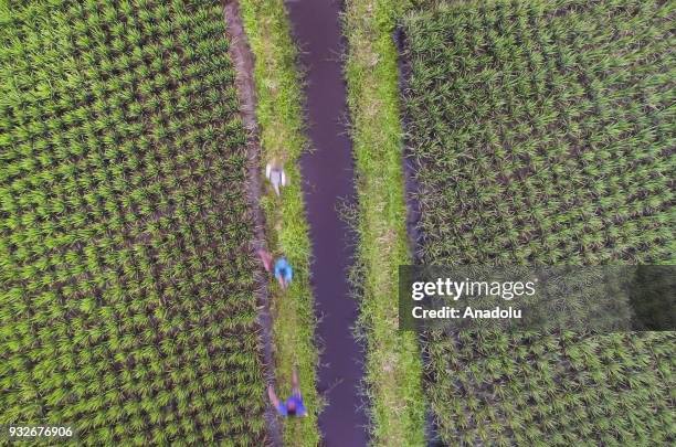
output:
<path id="1" fill-rule="evenodd" d="M 263 445 L 218 1 L 0 2 L 0 425 Z"/>

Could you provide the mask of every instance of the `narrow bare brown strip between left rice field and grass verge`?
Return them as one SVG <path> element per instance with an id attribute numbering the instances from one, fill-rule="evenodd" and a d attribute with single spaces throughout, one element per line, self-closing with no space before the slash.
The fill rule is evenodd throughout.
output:
<path id="1" fill-rule="evenodd" d="M 261 199 L 261 174 L 258 166 L 262 153 L 258 139 L 260 129 L 256 121 L 256 96 L 253 79 L 253 53 L 246 40 L 244 25 L 240 15 L 240 4 L 236 0 L 222 0 L 223 13 L 225 18 L 225 29 L 230 38 L 230 57 L 235 67 L 235 84 L 240 98 L 240 116 L 246 129 L 246 157 L 249 180 L 246 184 L 247 200 L 254 214 L 254 241 L 252 241 L 252 252 L 266 249 L 265 242 L 265 216 L 260 205 Z M 252 256 L 255 254 L 252 253 Z M 258 266 L 254 273 L 254 280 L 257 286 L 256 301 L 258 302 L 258 323 L 261 324 L 261 339 L 263 342 L 263 364 L 265 383 L 275 381 L 275 361 L 272 334 L 272 315 L 270 302 L 270 290 L 267 274 Z M 265 422 L 267 426 L 268 441 L 271 446 L 282 446 L 282 435 L 277 415 L 271 405 L 265 409 Z"/>

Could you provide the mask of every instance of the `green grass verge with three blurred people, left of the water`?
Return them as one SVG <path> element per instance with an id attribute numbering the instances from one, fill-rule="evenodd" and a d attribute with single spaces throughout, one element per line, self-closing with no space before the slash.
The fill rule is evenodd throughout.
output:
<path id="1" fill-rule="evenodd" d="M 261 128 L 263 169 L 266 160 L 283 161 L 291 177 L 282 198 L 272 190 L 262 198 L 268 244 L 294 266 L 294 281 L 286 292 L 276 284 L 272 315 L 278 394 L 291 393 L 291 373 L 298 365 L 300 389 L 310 414 L 284 421 L 285 445 L 319 445 L 317 414 L 321 409 L 316 389 L 318 362 L 315 339 L 313 294 L 309 284 L 310 242 L 305 219 L 297 160 L 307 147 L 304 134 L 304 96 L 296 67 L 297 50 L 282 0 L 241 0 L 242 18 L 255 57 L 256 114 Z"/>

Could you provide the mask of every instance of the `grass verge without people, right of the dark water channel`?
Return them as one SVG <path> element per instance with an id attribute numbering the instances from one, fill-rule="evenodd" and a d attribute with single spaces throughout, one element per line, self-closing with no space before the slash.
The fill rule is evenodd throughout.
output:
<path id="1" fill-rule="evenodd" d="M 356 157 L 360 328 L 374 445 L 424 445 L 422 360 L 412 333 L 398 333 L 398 267 L 411 264 L 405 228 L 397 49 L 403 4 L 348 0 L 346 78 Z"/>

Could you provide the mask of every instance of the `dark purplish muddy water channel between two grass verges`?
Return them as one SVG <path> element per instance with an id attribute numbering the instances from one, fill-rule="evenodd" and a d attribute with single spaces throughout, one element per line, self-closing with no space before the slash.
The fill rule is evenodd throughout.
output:
<path id="1" fill-rule="evenodd" d="M 287 0 L 306 70 L 308 134 L 314 148 L 300 160 L 314 249 L 313 286 L 324 342 L 318 389 L 328 398 L 319 426 L 329 447 L 366 446 L 367 418 L 359 393 L 361 348 L 352 337 L 357 302 L 346 279 L 352 251 L 348 227 L 336 211 L 352 196 L 353 172 L 346 128 L 341 30 L 337 0 Z"/>

